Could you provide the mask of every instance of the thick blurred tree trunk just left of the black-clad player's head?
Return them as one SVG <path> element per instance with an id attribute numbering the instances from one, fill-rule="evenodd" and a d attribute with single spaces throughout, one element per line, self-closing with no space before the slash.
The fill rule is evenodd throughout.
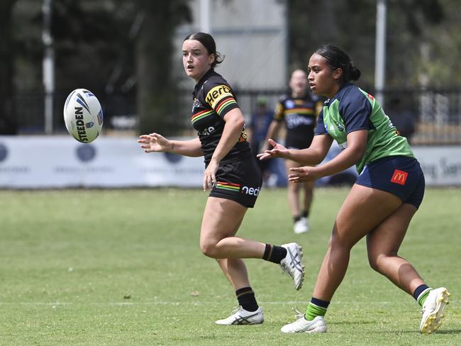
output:
<path id="1" fill-rule="evenodd" d="M 169 134 L 174 119 L 177 83 L 172 80 L 172 39 L 174 29 L 191 20 L 189 0 L 138 0 L 143 23 L 136 40 L 138 115 L 140 133 Z"/>

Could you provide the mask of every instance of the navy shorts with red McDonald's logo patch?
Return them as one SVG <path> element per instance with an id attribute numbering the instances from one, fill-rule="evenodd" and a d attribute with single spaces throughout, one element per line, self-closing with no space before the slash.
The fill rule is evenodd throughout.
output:
<path id="1" fill-rule="evenodd" d="M 367 164 L 355 184 L 387 191 L 416 208 L 423 201 L 426 186 L 418 160 L 405 156 L 385 157 Z"/>

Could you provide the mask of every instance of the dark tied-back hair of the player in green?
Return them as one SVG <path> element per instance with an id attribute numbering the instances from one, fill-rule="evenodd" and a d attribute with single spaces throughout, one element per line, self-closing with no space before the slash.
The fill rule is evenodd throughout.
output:
<path id="1" fill-rule="evenodd" d="M 331 69 L 342 69 L 341 79 L 343 82 L 356 81 L 360 78 L 360 69 L 354 66 L 349 55 L 335 45 L 323 45 L 316 50 L 316 54 L 326 59 Z"/>

